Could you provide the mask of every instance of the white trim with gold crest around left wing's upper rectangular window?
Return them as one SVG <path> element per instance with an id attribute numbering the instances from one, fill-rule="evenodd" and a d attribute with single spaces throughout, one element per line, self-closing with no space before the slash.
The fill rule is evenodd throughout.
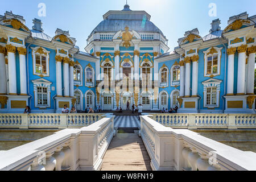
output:
<path id="1" fill-rule="evenodd" d="M 35 53 L 39 48 L 43 49 L 43 52 L 46 53 L 45 54 L 40 54 L 39 52 Z M 49 53 L 50 51 L 47 51 L 45 48 L 43 47 L 31 47 L 32 49 L 32 61 L 33 61 L 33 75 L 37 75 L 37 76 L 44 76 L 44 77 L 49 77 Z M 43 73 L 36 73 L 36 55 L 40 55 L 40 56 L 46 56 L 46 74 Z"/>

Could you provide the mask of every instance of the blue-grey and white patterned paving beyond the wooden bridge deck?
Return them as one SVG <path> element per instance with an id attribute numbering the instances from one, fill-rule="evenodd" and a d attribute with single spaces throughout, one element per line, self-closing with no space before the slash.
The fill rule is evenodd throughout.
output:
<path id="1" fill-rule="evenodd" d="M 138 116 L 115 116 L 114 127 L 141 127 Z"/>

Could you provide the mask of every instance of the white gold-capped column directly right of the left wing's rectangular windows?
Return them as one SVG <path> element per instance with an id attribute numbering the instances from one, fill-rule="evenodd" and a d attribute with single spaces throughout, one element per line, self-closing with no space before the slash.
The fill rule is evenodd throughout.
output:
<path id="1" fill-rule="evenodd" d="M 57 97 L 62 97 L 62 79 L 61 79 L 61 63 L 63 57 L 56 56 L 56 91 Z"/>

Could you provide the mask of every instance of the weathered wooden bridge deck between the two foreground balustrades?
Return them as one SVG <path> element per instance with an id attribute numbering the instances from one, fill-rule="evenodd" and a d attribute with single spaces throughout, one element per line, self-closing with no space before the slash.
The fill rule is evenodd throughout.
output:
<path id="1" fill-rule="evenodd" d="M 138 129 L 122 129 L 110 143 L 101 171 L 151 171 L 150 157 Z"/>

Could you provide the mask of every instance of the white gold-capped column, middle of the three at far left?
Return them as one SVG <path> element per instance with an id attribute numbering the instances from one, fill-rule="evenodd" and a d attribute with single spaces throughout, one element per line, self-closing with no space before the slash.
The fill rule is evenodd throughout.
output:
<path id="1" fill-rule="evenodd" d="M 8 52 L 8 73 L 9 73 L 9 95 L 17 94 L 17 80 L 16 80 L 16 47 L 6 45 Z"/>

